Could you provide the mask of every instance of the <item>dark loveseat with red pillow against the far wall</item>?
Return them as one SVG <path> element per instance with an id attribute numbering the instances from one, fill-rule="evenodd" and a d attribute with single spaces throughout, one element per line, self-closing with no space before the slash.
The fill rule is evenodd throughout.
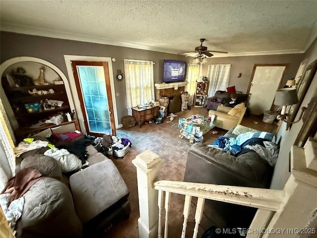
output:
<path id="1" fill-rule="evenodd" d="M 236 103 L 245 103 L 247 104 L 247 100 L 249 95 L 242 93 L 227 93 L 226 91 L 218 90 L 214 94 L 214 96 L 207 98 L 207 110 L 217 110 L 219 105 L 225 105 L 231 101 L 231 95 L 236 98 Z"/>

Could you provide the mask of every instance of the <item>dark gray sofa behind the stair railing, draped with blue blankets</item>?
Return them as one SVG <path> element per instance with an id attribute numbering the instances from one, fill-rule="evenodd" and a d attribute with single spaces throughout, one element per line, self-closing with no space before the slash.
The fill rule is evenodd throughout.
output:
<path id="1" fill-rule="evenodd" d="M 233 129 L 233 128 L 232 128 Z M 226 138 L 235 137 L 232 129 Z M 237 157 L 203 143 L 188 152 L 184 181 L 268 188 L 273 168 L 255 151 Z M 256 209 L 206 200 L 204 215 L 218 227 L 249 227 Z"/>

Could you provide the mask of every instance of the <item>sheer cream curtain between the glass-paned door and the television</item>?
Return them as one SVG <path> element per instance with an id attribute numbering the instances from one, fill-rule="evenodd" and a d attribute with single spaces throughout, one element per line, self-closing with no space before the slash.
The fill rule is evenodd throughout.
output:
<path id="1" fill-rule="evenodd" d="M 128 115 L 132 107 L 154 100 L 153 61 L 124 60 Z"/>

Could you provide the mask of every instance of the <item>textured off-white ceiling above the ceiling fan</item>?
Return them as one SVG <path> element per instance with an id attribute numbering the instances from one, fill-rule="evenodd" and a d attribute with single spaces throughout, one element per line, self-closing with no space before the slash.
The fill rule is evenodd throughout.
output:
<path id="1" fill-rule="evenodd" d="M 317 37 L 317 0 L 0 0 L 0 29 L 167 53 L 199 39 L 228 55 L 303 53 Z"/>

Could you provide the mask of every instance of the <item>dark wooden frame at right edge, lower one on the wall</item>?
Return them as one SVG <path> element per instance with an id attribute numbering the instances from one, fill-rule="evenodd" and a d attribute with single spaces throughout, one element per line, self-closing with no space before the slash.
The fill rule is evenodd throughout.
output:
<path id="1" fill-rule="evenodd" d="M 308 137 L 317 132 L 317 96 L 314 96 L 303 115 L 303 126 L 295 140 L 295 145 L 304 147 Z"/>

